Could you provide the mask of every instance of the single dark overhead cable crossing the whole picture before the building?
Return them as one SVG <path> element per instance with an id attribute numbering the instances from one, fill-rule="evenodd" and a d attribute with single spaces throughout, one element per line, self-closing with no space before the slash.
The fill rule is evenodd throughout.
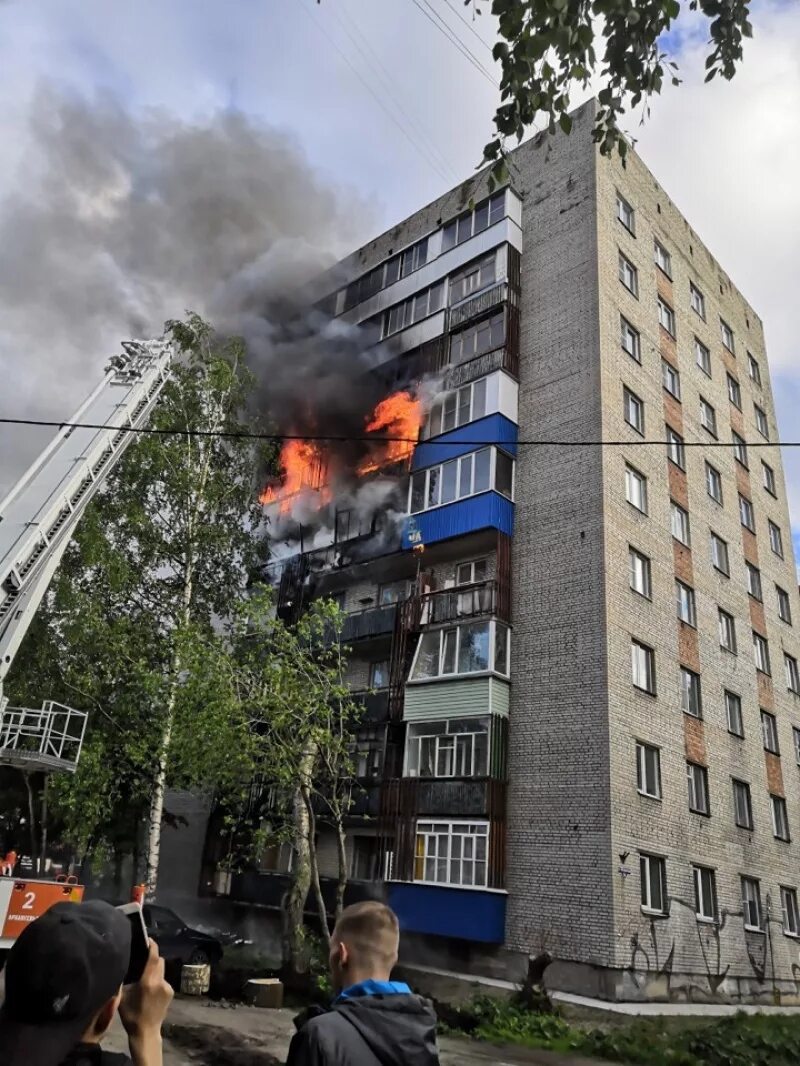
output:
<path id="1" fill-rule="evenodd" d="M 330 443 L 389 443 L 397 441 L 405 445 L 432 443 L 436 448 L 452 447 L 461 448 L 463 445 L 475 445 L 489 447 L 495 445 L 499 448 L 514 446 L 517 448 L 642 448 L 661 447 L 667 448 L 667 440 L 561 440 L 558 438 L 543 438 L 541 440 L 419 440 L 418 437 L 399 437 L 391 434 L 332 434 L 332 433 L 256 433 L 252 430 L 197 430 L 190 425 L 185 426 L 151 426 L 151 425 L 103 425 L 100 422 L 57 422 L 47 419 L 34 418 L 0 418 L 0 425 L 31 425 L 51 430 L 110 430 L 112 433 L 134 433 L 153 435 L 159 437 L 219 437 L 230 440 L 273 440 L 282 442 L 284 440 L 318 440 Z M 685 448 L 723 448 L 733 449 L 740 447 L 737 441 L 730 443 L 724 440 L 685 440 Z M 800 448 L 800 440 L 746 440 L 747 448 Z"/>

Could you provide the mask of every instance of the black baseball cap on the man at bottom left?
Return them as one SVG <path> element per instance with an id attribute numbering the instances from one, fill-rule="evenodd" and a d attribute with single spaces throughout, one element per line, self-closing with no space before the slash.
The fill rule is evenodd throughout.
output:
<path id="1" fill-rule="evenodd" d="M 19 934 L 5 964 L 3 1066 L 59 1066 L 130 958 L 130 924 L 110 903 L 57 903 Z"/>

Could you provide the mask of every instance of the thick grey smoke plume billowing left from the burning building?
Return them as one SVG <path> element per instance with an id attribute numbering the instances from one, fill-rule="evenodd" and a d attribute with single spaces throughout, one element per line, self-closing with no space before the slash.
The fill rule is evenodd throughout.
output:
<path id="1" fill-rule="evenodd" d="M 245 337 L 278 430 L 363 432 L 381 394 L 374 356 L 361 330 L 309 312 L 322 293 L 308 282 L 358 242 L 369 211 L 285 133 L 47 86 L 15 190 L 0 205 L 0 414 L 68 417 L 121 339 L 191 308 Z M 25 439 L 0 429 L 0 491 L 41 447 Z"/>

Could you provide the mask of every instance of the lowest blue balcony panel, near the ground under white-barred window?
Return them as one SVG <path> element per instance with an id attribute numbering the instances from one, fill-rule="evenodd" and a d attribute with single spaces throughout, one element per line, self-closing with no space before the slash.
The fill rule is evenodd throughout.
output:
<path id="1" fill-rule="evenodd" d="M 506 900 L 505 892 L 477 888 L 403 882 L 389 885 L 389 906 L 402 933 L 429 933 L 484 943 L 502 943 Z"/>

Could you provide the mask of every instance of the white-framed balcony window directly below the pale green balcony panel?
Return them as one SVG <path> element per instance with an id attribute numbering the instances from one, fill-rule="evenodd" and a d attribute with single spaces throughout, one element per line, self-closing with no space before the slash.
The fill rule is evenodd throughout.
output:
<path id="1" fill-rule="evenodd" d="M 406 777 L 485 777 L 487 773 L 489 717 L 409 723 Z"/>

